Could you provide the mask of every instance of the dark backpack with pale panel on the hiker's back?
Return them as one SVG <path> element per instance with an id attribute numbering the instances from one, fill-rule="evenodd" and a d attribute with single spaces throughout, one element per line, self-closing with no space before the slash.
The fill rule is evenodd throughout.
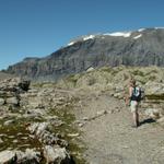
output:
<path id="1" fill-rule="evenodd" d="M 139 86 L 133 87 L 131 101 L 140 102 L 143 98 L 144 98 L 144 90 Z"/>

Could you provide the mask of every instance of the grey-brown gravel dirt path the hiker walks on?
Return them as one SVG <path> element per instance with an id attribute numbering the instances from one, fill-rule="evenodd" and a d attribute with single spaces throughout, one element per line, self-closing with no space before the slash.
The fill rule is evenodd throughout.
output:
<path id="1" fill-rule="evenodd" d="M 90 164 L 163 164 L 164 129 L 156 122 L 143 122 L 132 128 L 130 112 L 125 103 L 106 94 L 81 101 L 77 117 L 92 118 L 97 113 L 107 114 L 87 120 L 81 128 L 86 143 L 85 159 Z"/>

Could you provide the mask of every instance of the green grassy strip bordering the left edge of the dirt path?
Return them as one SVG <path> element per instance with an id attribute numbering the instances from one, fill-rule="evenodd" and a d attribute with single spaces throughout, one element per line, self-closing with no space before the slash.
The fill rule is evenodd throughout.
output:
<path id="1" fill-rule="evenodd" d="M 49 115 L 50 116 L 58 116 L 63 124 L 59 127 L 54 127 L 51 130 L 55 133 L 60 133 L 65 140 L 69 142 L 69 151 L 73 156 L 75 164 L 85 164 L 85 160 L 82 157 L 85 148 L 83 147 L 84 143 L 77 137 L 72 138 L 68 136 L 68 133 L 81 133 L 78 128 L 74 126 L 75 116 L 72 114 L 72 105 L 63 107 L 63 108 L 55 108 L 51 109 Z"/>

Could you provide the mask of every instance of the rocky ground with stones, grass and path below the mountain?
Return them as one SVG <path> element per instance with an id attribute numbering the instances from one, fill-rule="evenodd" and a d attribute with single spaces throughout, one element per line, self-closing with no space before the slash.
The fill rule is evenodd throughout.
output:
<path id="1" fill-rule="evenodd" d="M 131 74 L 145 90 L 137 129 L 124 101 Z M 58 83 L 1 81 L 0 163 L 163 163 L 163 77 L 159 68 L 119 67 Z"/>

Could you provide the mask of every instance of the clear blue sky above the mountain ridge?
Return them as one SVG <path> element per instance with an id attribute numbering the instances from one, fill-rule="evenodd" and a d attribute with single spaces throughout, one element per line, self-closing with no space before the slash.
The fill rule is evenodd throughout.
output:
<path id="1" fill-rule="evenodd" d="M 164 26 L 164 0 L 0 0 L 0 69 L 94 33 Z"/>

